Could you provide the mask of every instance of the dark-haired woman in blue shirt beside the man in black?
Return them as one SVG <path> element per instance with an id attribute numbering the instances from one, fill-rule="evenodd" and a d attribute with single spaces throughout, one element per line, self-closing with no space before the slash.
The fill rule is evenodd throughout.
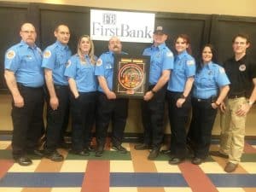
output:
<path id="1" fill-rule="evenodd" d="M 188 143 L 195 155 L 192 163 L 195 165 L 207 158 L 217 108 L 227 96 L 229 84 L 224 68 L 216 64 L 212 45 L 205 45 L 201 61 L 196 66 L 192 91 L 193 113 L 188 134 Z"/>

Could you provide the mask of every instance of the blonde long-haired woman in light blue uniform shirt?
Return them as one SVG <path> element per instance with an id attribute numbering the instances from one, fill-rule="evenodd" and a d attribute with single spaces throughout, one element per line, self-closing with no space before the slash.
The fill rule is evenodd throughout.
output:
<path id="1" fill-rule="evenodd" d="M 72 152 L 89 155 L 91 128 L 95 120 L 96 56 L 89 36 L 79 38 L 78 53 L 67 62 L 65 76 L 72 92 Z"/>

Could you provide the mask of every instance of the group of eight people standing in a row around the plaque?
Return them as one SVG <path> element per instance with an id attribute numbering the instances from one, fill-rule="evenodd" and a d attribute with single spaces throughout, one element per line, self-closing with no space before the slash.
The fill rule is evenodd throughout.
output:
<path id="1" fill-rule="evenodd" d="M 64 160 L 56 149 L 63 138 L 63 127 L 67 125 L 69 105 L 71 153 L 89 155 L 95 150 L 96 157 L 102 156 L 110 122 L 112 148 L 126 153 L 122 140 L 129 101 L 113 92 L 114 55 L 127 54 L 122 51 L 119 38 L 110 38 L 108 52 L 97 58 L 90 36 L 79 38 L 77 53 L 72 55 L 67 46 L 68 26 L 57 26 L 54 34 L 55 44 L 42 53 L 35 44 L 35 27 L 24 23 L 20 27 L 20 43 L 9 48 L 5 55 L 4 76 L 13 96 L 14 160 L 21 166 L 32 164 L 26 154 L 44 155 L 53 161 Z M 143 51 L 143 55 L 150 56 L 149 86 L 141 105 L 143 143 L 135 145 L 135 149 L 150 149 L 148 160 L 155 160 L 160 154 L 167 101 L 172 131 L 170 148 L 165 151 L 171 154 L 169 163 L 183 162 L 190 151 L 194 154 L 192 163 L 199 165 L 209 153 L 212 126 L 220 108 L 220 149 L 211 154 L 228 158 L 224 170 L 234 172 L 243 150 L 247 112 L 256 99 L 256 66 L 246 55 L 249 38 L 244 34 L 233 38 L 235 55 L 223 67 L 217 64 L 211 44 L 203 47 L 201 59 L 195 61 L 186 34 L 175 39 L 176 54 L 166 46 L 167 38 L 163 26 L 157 26 L 154 43 Z M 44 98 L 47 125 L 42 153 L 38 150 L 38 140 L 44 130 Z M 187 133 L 191 107 L 192 119 Z M 96 149 L 90 146 L 94 124 Z"/>

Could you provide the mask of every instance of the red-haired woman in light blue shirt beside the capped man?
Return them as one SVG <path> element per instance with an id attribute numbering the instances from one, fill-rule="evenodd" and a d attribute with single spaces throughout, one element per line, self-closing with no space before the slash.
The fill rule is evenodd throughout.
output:
<path id="1" fill-rule="evenodd" d="M 187 155 L 185 125 L 191 107 L 189 93 L 195 76 L 195 59 L 189 55 L 191 51 L 188 35 L 178 35 L 175 49 L 177 55 L 166 94 L 172 131 L 171 153 L 173 154 L 169 164 L 179 164 Z"/>

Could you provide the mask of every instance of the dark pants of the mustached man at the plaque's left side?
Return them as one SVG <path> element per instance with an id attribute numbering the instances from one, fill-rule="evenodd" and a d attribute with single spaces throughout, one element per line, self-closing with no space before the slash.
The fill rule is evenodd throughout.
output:
<path id="1" fill-rule="evenodd" d="M 118 98 L 109 100 L 100 92 L 96 113 L 96 142 L 103 146 L 108 136 L 108 125 L 112 121 L 112 144 L 118 146 L 122 143 L 125 124 L 128 115 L 128 99 Z"/>

